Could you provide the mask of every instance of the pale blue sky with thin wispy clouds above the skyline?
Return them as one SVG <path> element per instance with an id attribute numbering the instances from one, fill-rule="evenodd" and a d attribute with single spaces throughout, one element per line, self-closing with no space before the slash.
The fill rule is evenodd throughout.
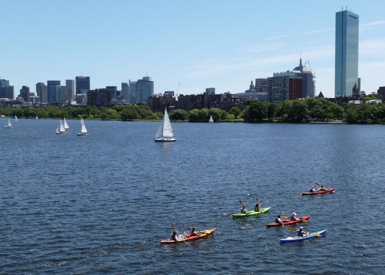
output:
<path id="1" fill-rule="evenodd" d="M 0 0 L 0 77 L 37 82 L 89 76 L 91 88 L 152 77 L 155 93 L 244 92 L 292 70 L 300 52 L 316 94 L 334 97 L 335 13 L 360 17 L 361 89 L 385 86 L 385 1 Z"/>

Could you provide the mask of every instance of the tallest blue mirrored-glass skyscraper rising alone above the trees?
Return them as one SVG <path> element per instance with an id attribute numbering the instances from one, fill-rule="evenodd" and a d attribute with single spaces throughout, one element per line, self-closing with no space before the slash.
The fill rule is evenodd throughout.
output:
<path id="1" fill-rule="evenodd" d="M 351 96 L 358 87 L 358 19 L 348 10 L 336 12 L 335 97 Z"/>

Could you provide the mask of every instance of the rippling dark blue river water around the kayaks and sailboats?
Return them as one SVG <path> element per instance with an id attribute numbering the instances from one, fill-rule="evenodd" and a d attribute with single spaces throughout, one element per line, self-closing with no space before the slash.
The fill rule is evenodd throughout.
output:
<path id="1" fill-rule="evenodd" d="M 172 123 L 165 144 L 158 122 L 5 123 L 0 274 L 384 273 L 384 125 Z M 315 182 L 336 193 L 300 195 Z M 231 218 L 255 197 L 267 214 Z M 326 236 L 280 244 L 282 211 Z M 161 245 L 170 223 L 217 230 Z"/>

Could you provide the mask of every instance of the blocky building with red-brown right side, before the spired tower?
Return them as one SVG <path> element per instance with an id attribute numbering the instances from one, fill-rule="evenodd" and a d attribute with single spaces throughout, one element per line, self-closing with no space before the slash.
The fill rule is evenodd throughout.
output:
<path id="1" fill-rule="evenodd" d="M 300 71 L 286 71 L 274 73 L 268 78 L 268 102 L 281 103 L 285 100 L 302 98 L 302 77 L 297 76 Z"/>

